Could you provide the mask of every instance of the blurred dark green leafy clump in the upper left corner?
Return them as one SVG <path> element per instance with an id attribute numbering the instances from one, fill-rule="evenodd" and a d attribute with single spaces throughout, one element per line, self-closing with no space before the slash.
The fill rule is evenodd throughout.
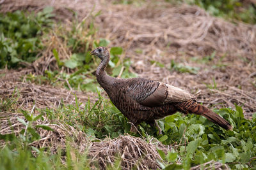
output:
<path id="1" fill-rule="evenodd" d="M 0 68 L 33 62 L 42 50 L 42 34 L 52 25 L 52 8 L 36 13 L 0 14 Z"/>

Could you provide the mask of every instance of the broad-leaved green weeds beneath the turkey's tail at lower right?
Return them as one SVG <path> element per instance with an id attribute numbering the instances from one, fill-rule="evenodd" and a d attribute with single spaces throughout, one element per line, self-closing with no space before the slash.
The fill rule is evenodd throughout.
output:
<path id="1" fill-rule="evenodd" d="M 226 131 L 197 115 L 182 118 L 175 114 L 159 121 L 164 131 L 159 140 L 173 145 L 167 155 L 159 150 L 168 162 L 161 164 L 163 168 L 173 167 L 177 160 L 184 169 L 211 160 L 228 164 L 232 169 L 256 166 L 256 114 L 253 120 L 246 120 L 240 106 L 236 106 L 236 110 L 223 108 L 216 112 L 231 122 L 233 131 Z"/>

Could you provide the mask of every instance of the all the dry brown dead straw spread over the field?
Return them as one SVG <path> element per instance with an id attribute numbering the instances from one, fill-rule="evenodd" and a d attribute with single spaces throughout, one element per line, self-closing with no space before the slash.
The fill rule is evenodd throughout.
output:
<path id="1" fill-rule="evenodd" d="M 125 49 L 122 58 L 129 57 L 133 61 L 132 69 L 139 76 L 161 80 L 171 85 L 193 92 L 200 103 L 206 106 L 233 107 L 234 103 L 243 107 L 248 118 L 256 112 L 256 27 L 241 22 L 231 23 L 221 18 L 212 17 L 196 6 L 182 4 L 179 6 L 163 1 L 150 1 L 143 6 L 112 4 L 111 1 L 1 1 L 1 12 L 15 10 L 40 11 L 45 6 L 54 6 L 56 20 L 70 24 L 77 12 L 79 20 L 88 18 L 90 13 L 101 15 L 96 18 L 99 27 L 98 36 L 111 40 L 110 46 L 122 46 Z M 17 98 L 20 108 L 56 108 L 64 103 L 74 103 L 76 94 L 79 102 L 85 103 L 96 99 L 95 94 L 77 92 L 22 82 L 20 77 L 26 74 L 44 74 L 46 68 L 56 69 L 56 60 L 52 49 L 60 49 L 60 57 L 67 59 L 70 53 L 61 47 L 61 41 L 52 35 L 52 43 L 45 50 L 44 57 L 29 65 L 28 69 L 20 71 L 1 70 L 0 96 Z M 61 50 L 62 49 L 62 50 Z M 138 52 L 140 51 L 140 52 Z M 191 57 L 203 59 L 212 52 L 214 59 L 205 63 L 191 60 Z M 223 57 L 224 56 L 224 57 Z M 164 64 L 159 67 L 150 61 Z M 170 61 L 177 60 L 184 66 L 200 67 L 197 74 L 170 71 Z M 223 67 L 218 67 L 218 64 Z M 216 66 L 216 67 L 214 67 Z M 214 87 L 212 80 L 216 82 Z M 65 80 L 63 80 L 65 81 Z M 209 88 L 209 86 L 213 88 Z M 20 113 L 1 112 L 1 134 L 8 134 L 14 129 L 19 134 L 24 125 L 17 121 Z M 10 126 L 8 120 L 12 122 Z M 159 168 L 156 159 L 159 154 L 156 145 L 147 143 L 140 138 L 120 136 L 116 139 L 105 139 L 90 143 L 86 135 L 77 132 L 71 126 L 51 124 L 46 118 L 36 124 L 47 124 L 53 131 L 38 129 L 41 136 L 39 141 L 31 144 L 39 148 L 49 146 L 51 153 L 56 153 L 58 147 L 65 147 L 67 136 L 77 136 L 77 148 L 81 150 L 90 146 L 88 156 L 99 165 L 106 168 L 114 164 L 116 158 L 122 159 L 122 167 L 131 169 L 133 166 L 141 169 Z M 2 143 L 3 144 L 3 143 Z M 158 143 L 157 146 L 160 144 Z M 83 147 L 82 147 L 83 146 Z M 163 150 L 170 150 L 162 146 Z M 215 169 L 228 169 L 218 162 L 207 162 L 203 166 Z M 200 169 L 202 166 L 192 167 Z"/>

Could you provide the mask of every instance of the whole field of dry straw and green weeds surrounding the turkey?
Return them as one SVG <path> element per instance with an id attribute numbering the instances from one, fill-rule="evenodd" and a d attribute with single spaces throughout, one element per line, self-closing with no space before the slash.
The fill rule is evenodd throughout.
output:
<path id="1" fill-rule="evenodd" d="M 256 169 L 255 24 L 253 0 L 0 1 L 0 169 Z M 97 46 L 109 75 L 187 90 L 233 131 L 175 113 L 129 132 Z"/>

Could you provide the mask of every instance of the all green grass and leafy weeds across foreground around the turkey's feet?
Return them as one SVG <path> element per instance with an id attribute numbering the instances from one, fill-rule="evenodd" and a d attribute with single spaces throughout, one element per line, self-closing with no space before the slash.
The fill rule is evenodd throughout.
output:
<path id="1" fill-rule="evenodd" d="M 12 104 L 10 105 L 12 107 Z M 157 138 L 164 145 L 174 145 L 172 152 L 164 155 L 161 150 L 159 154 L 163 160 L 159 160 L 161 166 L 168 167 L 177 160 L 182 162 L 182 167 L 187 169 L 210 160 L 227 163 L 232 169 L 249 168 L 256 166 L 253 158 L 256 157 L 256 115 L 253 120 L 246 120 L 243 117 L 243 110 L 236 106 L 236 110 L 231 108 L 223 108 L 215 110 L 216 113 L 227 119 L 234 127 L 233 131 L 226 131 L 209 120 L 198 115 L 188 115 L 184 117 L 180 113 L 159 120 L 159 125 L 163 130 L 163 134 L 159 135 L 155 127 L 142 123 L 139 125 L 139 133 L 132 134 L 139 138 Z M 116 138 L 120 134 L 129 132 L 130 124 L 127 119 L 118 111 L 108 99 L 104 99 L 99 95 L 99 100 L 92 104 L 88 101 L 83 107 L 77 101 L 76 104 L 61 104 L 56 110 L 42 109 L 38 110 L 39 116 L 30 115 L 30 111 L 22 111 L 25 119 L 19 119 L 19 122 L 25 125 L 21 129 L 20 136 L 1 135 L 1 139 L 10 141 L 1 148 L 1 164 L 6 169 L 19 168 L 20 162 L 24 162 L 24 168 L 43 168 L 47 164 L 47 168 L 61 167 L 88 167 L 88 159 L 86 153 L 76 153 L 76 162 L 68 158 L 70 150 L 66 150 L 66 165 L 57 165 L 61 159 L 61 154 L 51 155 L 47 152 L 47 148 L 40 150 L 33 148 L 29 143 L 40 139 L 36 129 L 43 128 L 51 131 L 48 125 L 33 125 L 32 123 L 38 119 L 44 120 L 46 117 L 49 122 L 62 122 L 64 125 L 71 125 L 77 131 L 83 131 L 92 141 L 97 139 Z M 26 136 L 24 135 L 25 129 Z M 131 134 L 131 132 L 129 132 Z M 74 140 L 72 137 L 70 141 Z M 74 137 L 73 137 L 74 138 Z M 176 143 L 176 144 L 175 144 Z M 179 145 L 177 145 L 179 144 Z M 67 143 L 66 145 L 71 145 Z M 177 145 L 177 146 L 175 146 Z M 31 155 L 31 151 L 36 151 L 35 155 Z M 70 160 L 68 160 L 70 159 Z M 68 166 L 68 164 L 70 164 Z"/>

